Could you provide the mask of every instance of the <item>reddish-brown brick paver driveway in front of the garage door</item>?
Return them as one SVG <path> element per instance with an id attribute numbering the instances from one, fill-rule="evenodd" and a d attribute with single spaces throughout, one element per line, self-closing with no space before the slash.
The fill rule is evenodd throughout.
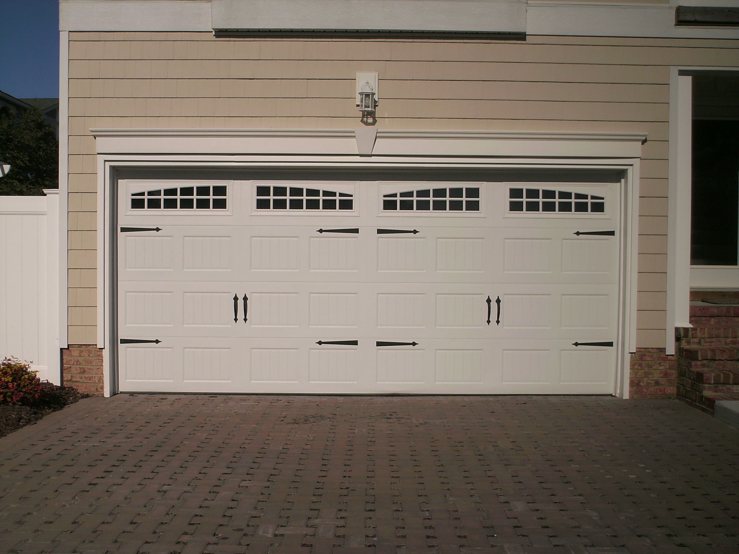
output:
<path id="1" fill-rule="evenodd" d="M 736 554 L 738 454 L 674 400 L 121 394 L 0 439 L 0 552 Z"/>

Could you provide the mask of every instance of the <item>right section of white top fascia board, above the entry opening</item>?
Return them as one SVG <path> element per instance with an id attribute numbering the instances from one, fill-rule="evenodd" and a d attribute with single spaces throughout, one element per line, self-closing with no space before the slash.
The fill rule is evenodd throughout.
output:
<path id="1" fill-rule="evenodd" d="M 527 35 L 654 38 L 739 38 L 739 29 L 676 27 L 668 4 L 595 4 L 529 1 Z"/>

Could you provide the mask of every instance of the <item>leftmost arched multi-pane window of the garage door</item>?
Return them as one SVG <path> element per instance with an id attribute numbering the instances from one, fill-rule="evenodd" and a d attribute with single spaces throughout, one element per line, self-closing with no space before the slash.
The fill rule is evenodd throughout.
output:
<path id="1" fill-rule="evenodd" d="M 146 196 L 146 202 L 143 196 Z M 132 210 L 225 210 L 228 208 L 228 187 L 156 188 L 131 194 Z"/>

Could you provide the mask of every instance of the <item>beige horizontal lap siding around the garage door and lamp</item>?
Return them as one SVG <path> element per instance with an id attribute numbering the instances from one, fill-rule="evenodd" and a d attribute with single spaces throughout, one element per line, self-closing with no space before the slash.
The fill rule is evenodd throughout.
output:
<path id="1" fill-rule="evenodd" d="M 670 66 L 739 66 L 737 41 L 216 39 L 69 33 L 69 341 L 95 343 L 93 127 L 351 129 L 357 71 L 381 129 L 632 131 L 642 148 L 637 346 L 664 346 Z"/>

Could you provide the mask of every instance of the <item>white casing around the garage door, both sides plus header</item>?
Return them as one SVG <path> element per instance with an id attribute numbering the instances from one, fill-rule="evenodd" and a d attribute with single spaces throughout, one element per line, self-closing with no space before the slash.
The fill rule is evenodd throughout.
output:
<path id="1" fill-rule="evenodd" d="M 98 152 L 98 346 L 105 394 L 118 392 L 118 180 L 140 171 L 606 171 L 621 175 L 616 387 L 629 396 L 636 351 L 640 133 L 403 131 L 379 129 L 371 157 L 357 155 L 351 130 L 91 129 Z M 166 152 L 166 154 L 163 154 Z M 554 180 L 559 180 L 556 177 Z M 66 219 L 61 219 L 62 223 Z"/>

